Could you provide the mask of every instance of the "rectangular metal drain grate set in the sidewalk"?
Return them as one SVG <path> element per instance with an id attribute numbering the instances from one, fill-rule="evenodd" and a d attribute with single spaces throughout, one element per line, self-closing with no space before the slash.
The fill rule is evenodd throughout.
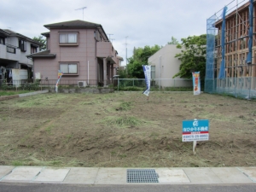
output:
<path id="1" fill-rule="evenodd" d="M 159 183 L 154 169 L 127 169 L 127 183 Z"/>

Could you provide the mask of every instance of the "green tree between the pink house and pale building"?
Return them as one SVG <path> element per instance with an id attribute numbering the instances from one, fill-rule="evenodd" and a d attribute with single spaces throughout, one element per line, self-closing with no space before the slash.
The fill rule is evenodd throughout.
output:
<path id="1" fill-rule="evenodd" d="M 154 45 L 152 47 L 146 45 L 144 48 L 134 48 L 133 55 L 128 59 L 128 73 L 130 78 L 143 79 L 143 65 L 148 65 L 148 57 L 154 55 L 161 47 Z"/>

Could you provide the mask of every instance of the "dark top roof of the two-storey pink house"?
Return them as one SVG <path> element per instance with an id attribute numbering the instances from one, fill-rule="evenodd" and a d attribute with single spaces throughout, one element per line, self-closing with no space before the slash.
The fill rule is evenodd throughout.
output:
<path id="1" fill-rule="evenodd" d="M 64 21 L 60 23 L 47 24 L 44 26 L 46 28 L 51 28 L 55 26 L 101 26 L 101 25 L 97 23 L 88 22 L 85 20 L 69 20 L 69 21 Z"/>

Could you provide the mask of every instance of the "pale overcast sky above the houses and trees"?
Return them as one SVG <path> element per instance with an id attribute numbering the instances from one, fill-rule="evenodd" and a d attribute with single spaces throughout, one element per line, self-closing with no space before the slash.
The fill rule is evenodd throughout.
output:
<path id="1" fill-rule="evenodd" d="M 247 3 L 248 0 L 236 0 Z M 125 59 L 134 47 L 166 45 L 172 36 L 180 41 L 207 33 L 207 18 L 232 0 L 1 0 L 0 28 L 11 29 L 29 38 L 48 32 L 46 24 L 84 20 L 101 24 L 113 34 L 113 47 Z M 80 9 L 80 10 L 75 10 Z M 221 15 L 221 12 L 218 13 Z M 123 65 L 125 61 L 123 61 Z"/>

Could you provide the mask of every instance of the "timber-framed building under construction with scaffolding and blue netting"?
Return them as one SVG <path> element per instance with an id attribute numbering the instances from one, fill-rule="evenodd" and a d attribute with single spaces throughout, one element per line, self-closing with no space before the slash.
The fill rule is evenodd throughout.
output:
<path id="1" fill-rule="evenodd" d="M 207 19 L 205 91 L 256 98 L 256 0 L 230 2 Z"/>

